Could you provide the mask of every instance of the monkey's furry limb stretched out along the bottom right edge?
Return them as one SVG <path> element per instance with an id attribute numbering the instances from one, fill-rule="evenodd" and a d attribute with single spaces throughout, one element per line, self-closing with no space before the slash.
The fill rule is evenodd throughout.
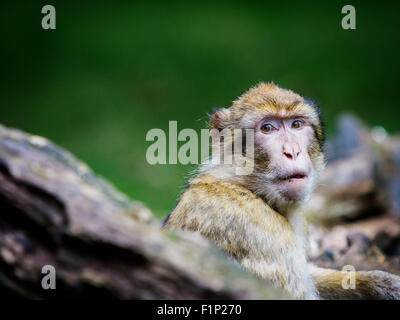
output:
<path id="1" fill-rule="evenodd" d="M 345 289 L 348 273 L 316 266 L 310 270 L 323 299 L 400 299 L 400 277 L 388 272 L 357 271 L 355 288 Z"/>

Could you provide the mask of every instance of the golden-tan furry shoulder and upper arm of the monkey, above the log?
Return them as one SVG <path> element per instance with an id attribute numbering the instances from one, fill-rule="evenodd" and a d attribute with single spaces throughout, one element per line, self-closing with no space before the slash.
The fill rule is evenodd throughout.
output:
<path id="1" fill-rule="evenodd" d="M 297 256 L 302 243 L 287 218 L 239 184 L 210 175 L 193 179 L 165 228 L 199 232 L 245 268 L 275 286 L 283 286 L 293 297 L 315 297 L 310 293 L 312 282 L 304 281 L 301 272 L 306 267 L 305 256 Z"/>

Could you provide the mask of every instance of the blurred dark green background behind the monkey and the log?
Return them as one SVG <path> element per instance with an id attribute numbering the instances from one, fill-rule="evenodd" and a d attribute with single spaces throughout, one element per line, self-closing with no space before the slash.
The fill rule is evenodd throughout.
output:
<path id="1" fill-rule="evenodd" d="M 57 29 L 41 28 L 55 6 Z M 341 28 L 352 4 L 357 30 Z M 313 98 L 328 134 L 353 111 L 398 131 L 399 6 L 389 1 L 100 2 L 1 5 L 0 122 L 43 135 L 157 216 L 183 165 L 146 162 L 148 130 L 203 128 L 259 81 Z"/>

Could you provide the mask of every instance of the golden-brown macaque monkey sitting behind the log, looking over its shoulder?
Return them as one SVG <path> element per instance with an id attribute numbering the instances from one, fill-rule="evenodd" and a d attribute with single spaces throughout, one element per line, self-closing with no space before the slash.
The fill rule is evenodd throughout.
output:
<path id="1" fill-rule="evenodd" d="M 247 160 L 253 170 L 239 175 L 234 160 L 205 161 L 163 229 L 199 233 L 292 299 L 400 299 L 397 275 L 357 271 L 355 289 L 348 289 L 341 271 L 307 260 L 302 207 L 325 167 L 318 106 L 272 82 L 260 83 L 212 114 L 209 126 L 218 132 L 250 130 L 254 152 Z"/>

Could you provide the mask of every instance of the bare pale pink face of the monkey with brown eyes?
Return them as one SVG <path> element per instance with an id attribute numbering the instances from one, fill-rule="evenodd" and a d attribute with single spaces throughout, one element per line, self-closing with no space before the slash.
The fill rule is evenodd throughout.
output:
<path id="1" fill-rule="evenodd" d="M 314 142 L 312 123 L 306 116 L 267 116 L 254 128 L 255 161 L 270 197 L 303 201 L 315 180 L 309 150 Z M 258 158 L 258 159 L 257 159 Z"/>

